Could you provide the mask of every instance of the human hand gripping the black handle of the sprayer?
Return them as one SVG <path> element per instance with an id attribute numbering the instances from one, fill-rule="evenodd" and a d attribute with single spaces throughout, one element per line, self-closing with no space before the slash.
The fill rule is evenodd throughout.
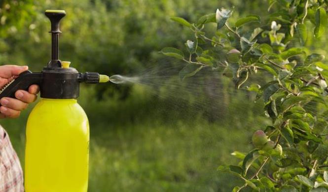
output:
<path id="1" fill-rule="evenodd" d="M 20 73 L 28 70 L 28 66 L 2 65 L 0 66 L 0 89 L 16 78 Z M 0 99 L 0 118 L 17 118 L 28 103 L 34 102 L 39 92 L 37 85 L 31 85 L 28 91 L 18 90 L 16 98 L 2 97 Z"/>

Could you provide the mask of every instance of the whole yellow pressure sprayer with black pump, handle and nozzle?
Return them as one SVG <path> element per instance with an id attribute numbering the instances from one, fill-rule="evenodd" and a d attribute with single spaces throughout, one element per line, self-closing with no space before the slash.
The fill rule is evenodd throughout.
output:
<path id="1" fill-rule="evenodd" d="M 46 10 L 51 22 L 51 60 L 41 72 L 25 71 L 5 85 L 0 98 L 39 85 L 40 101 L 26 127 L 26 192 L 86 192 L 88 188 L 89 123 L 77 104 L 79 84 L 104 83 L 106 75 L 80 73 L 58 58 L 60 20 L 64 10 Z"/>

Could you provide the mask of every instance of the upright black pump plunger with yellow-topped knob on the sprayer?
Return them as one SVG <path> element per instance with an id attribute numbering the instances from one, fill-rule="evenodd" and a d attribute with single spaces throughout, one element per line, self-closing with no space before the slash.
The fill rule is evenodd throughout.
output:
<path id="1" fill-rule="evenodd" d="M 58 59 L 58 50 L 59 50 L 59 29 L 60 20 L 65 17 L 66 12 L 64 10 L 46 10 L 44 12 L 51 22 L 51 61 L 48 64 L 48 67 L 62 67 L 60 60 Z"/>

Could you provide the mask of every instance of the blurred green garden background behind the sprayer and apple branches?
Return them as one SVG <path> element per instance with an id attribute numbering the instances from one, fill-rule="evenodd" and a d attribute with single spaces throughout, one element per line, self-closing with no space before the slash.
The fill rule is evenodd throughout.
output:
<path id="1" fill-rule="evenodd" d="M 0 64 L 28 64 L 32 71 L 40 71 L 51 49 L 50 24 L 43 12 L 65 9 L 59 57 L 79 71 L 113 75 L 179 69 L 179 63 L 158 51 L 181 48 L 193 36 L 171 16 L 193 22 L 217 8 L 234 6 L 233 20 L 265 15 L 267 4 L 266 0 L 1 0 Z M 82 86 L 78 100 L 90 121 L 89 191 L 226 192 L 240 182 L 216 169 L 224 162 L 237 163 L 230 154 L 247 152 L 252 132 L 269 122 L 261 113 L 263 106 L 251 102 L 252 95 L 234 91 L 229 79 L 208 74 L 190 78 L 184 87 L 177 86 L 173 73 L 166 79 L 153 76 L 151 80 L 158 80 L 153 86 Z M 25 125 L 32 108 L 33 104 L 18 119 L 0 120 L 22 166 Z"/>

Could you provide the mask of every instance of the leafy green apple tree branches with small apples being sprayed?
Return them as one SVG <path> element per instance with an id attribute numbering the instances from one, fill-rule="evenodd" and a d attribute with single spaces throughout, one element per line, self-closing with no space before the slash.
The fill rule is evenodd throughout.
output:
<path id="1" fill-rule="evenodd" d="M 279 11 L 268 13 L 268 19 L 249 15 L 235 20 L 234 27 L 232 22 L 227 23 L 232 11 L 224 8 L 200 17 L 193 24 L 173 17 L 172 20 L 194 32 L 195 39 L 185 43 L 188 59 L 176 48 L 164 48 L 161 53 L 186 63 L 179 73 L 181 80 L 211 67 L 232 77 L 236 89 L 247 88 L 256 93 L 256 100 L 262 99 L 264 112 L 272 124 L 255 131 L 254 149 L 247 154 L 238 152 L 241 157 L 238 166 L 218 168 L 245 181 L 233 192 L 244 188 L 327 192 L 328 67 L 323 55 L 309 54 L 305 45 L 310 30 L 316 38 L 324 35 L 328 1 L 270 2 L 268 11 Z M 208 23 L 217 25 L 211 38 L 204 31 Z M 258 24 L 266 27 L 262 29 Z M 253 32 L 249 34 L 243 28 Z M 234 35 L 227 35 L 229 32 Z M 200 40 L 207 44 L 199 46 Z M 250 82 L 252 75 L 260 76 L 265 84 Z M 324 115 L 322 111 L 326 111 Z"/>

